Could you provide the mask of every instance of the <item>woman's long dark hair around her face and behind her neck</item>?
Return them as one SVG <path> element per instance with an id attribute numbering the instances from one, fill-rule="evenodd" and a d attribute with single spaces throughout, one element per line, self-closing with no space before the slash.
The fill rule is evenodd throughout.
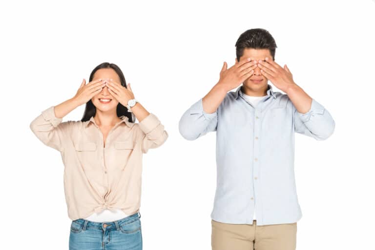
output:
<path id="1" fill-rule="evenodd" d="M 114 71 L 116 71 L 117 75 L 120 77 L 121 85 L 123 85 L 125 88 L 127 88 L 125 77 L 124 77 L 124 74 L 121 71 L 121 69 L 116 64 L 109 63 L 109 62 L 103 62 L 103 63 L 99 64 L 98 66 L 96 66 L 95 69 L 93 69 L 93 71 L 91 72 L 88 82 L 92 81 L 92 78 L 94 77 L 94 74 L 97 70 L 107 69 L 107 68 L 111 68 Z M 133 113 L 128 112 L 127 108 L 125 106 L 123 106 L 120 102 L 119 102 L 119 104 L 117 104 L 116 112 L 117 112 L 118 117 L 120 117 L 121 115 L 125 115 L 126 117 L 129 118 L 130 122 L 135 121 L 135 117 L 134 117 Z M 84 108 L 84 113 L 83 113 L 83 117 L 82 117 L 81 121 L 88 121 L 91 118 L 91 116 L 95 116 L 95 114 L 96 114 L 96 107 L 90 99 L 88 102 L 86 102 L 86 106 Z"/>

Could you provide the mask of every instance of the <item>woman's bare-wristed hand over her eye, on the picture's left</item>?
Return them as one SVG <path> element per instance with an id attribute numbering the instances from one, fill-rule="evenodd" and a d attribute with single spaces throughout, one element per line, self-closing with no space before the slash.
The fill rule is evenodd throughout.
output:
<path id="1" fill-rule="evenodd" d="M 104 79 L 93 80 L 87 84 L 86 80 L 83 79 L 82 84 L 73 99 L 76 103 L 78 103 L 79 106 L 81 106 L 82 104 L 88 102 L 93 96 L 100 93 L 104 86 Z"/>

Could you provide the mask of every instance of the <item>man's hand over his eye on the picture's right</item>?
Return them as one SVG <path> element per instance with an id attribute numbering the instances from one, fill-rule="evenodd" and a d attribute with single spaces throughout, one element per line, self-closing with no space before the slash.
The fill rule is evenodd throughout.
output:
<path id="1" fill-rule="evenodd" d="M 296 85 L 293 81 L 292 73 L 285 64 L 284 68 L 278 65 L 271 58 L 266 61 L 259 60 L 258 64 L 263 76 L 267 77 L 278 89 L 287 93 L 291 86 Z"/>

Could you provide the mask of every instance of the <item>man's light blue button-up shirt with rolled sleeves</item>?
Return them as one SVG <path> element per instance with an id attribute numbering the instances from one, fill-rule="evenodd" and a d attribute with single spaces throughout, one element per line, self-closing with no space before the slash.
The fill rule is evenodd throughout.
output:
<path id="1" fill-rule="evenodd" d="M 335 122 L 312 99 L 299 113 L 288 95 L 273 92 L 254 108 L 241 86 L 229 92 L 216 112 L 205 113 L 202 99 L 182 115 L 180 134 L 195 140 L 216 131 L 217 186 L 211 218 L 231 224 L 294 223 L 302 217 L 294 179 L 294 134 L 325 140 Z"/>

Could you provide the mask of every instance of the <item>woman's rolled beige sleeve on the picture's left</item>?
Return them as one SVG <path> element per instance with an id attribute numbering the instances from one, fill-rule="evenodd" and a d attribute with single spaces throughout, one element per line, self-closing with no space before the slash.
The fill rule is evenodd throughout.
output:
<path id="1" fill-rule="evenodd" d="M 62 122 L 62 118 L 56 117 L 54 106 L 42 111 L 42 114 L 30 123 L 31 131 L 39 140 L 60 152 L 63 150 L 64 138 L 69 126 L 69 121 Z"/>

